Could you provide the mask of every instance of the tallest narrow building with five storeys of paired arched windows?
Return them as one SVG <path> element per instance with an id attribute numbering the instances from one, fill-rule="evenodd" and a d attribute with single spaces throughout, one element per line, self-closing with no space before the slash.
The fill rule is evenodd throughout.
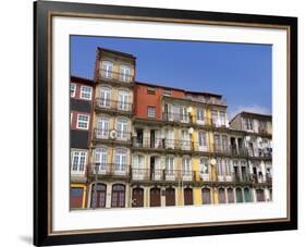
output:
<path id="1" fill-rule="evenodd" d="M 135 58 L 97 49 L 88 207 L 128 207 Z"/>

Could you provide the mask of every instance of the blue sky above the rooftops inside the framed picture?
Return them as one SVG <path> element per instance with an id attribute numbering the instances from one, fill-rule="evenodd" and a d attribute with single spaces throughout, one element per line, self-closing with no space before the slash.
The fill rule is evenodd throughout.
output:
<path id="1" fill-rule="evenodd" d="M 134 54 L 139 82 L 223 95 L 230 116 L 271 113 L 271 46 L 71 36 L 72 75 L 94 77 L 97 47 Z"/>

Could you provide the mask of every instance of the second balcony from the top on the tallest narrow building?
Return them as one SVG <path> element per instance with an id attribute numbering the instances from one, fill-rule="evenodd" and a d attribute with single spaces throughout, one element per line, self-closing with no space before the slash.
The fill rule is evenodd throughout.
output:
<path id="1" fill-rule="evenodd" d="M 133 103 L 121 100 L 111 100 L 106 98 L 95 99 L 95 109 L 105 112 L 119 112 L 132 114 Z"/>

